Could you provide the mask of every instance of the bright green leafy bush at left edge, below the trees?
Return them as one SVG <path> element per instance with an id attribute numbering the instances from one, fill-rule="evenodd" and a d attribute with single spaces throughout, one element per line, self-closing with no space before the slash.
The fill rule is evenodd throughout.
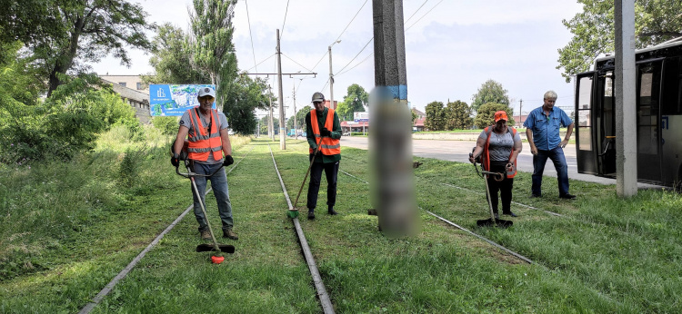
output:
<path id="1" fill-rule="evenodd" d="M 131 137 L 142 135 L 133 108 L 107 87 L 96 89 L 96 75 L 63 79 L 43 102 L 3 102 L 0 162 L 70 160 L 76 152 L 92 149 L 96 134 L 116 123 L 125 125 Z"/>

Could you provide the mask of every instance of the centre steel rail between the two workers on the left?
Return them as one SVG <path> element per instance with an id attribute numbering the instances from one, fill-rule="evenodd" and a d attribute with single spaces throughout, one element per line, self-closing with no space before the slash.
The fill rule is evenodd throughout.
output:
<path id="1" fill-rule="evenodd" d="M 294 209 L 289 199 L 289 193 L 286 191 L 286 186 L 284 181 L 282 181 L 282 175 L 279 173 L 277 168 L 277 162 L 275 161 L 275 154 L 272 152 L 270 144 L 267 144 L 267 148 L 270 150 L 270 156 L 272 156 L 272 162 L 275 165 L 275 172 L 277 172 L 277 177 L 279 178 L 279 184 L 282 185 L 282 191 L 285 194 L 286 203 L 289 205 L 289 211 Z M 308 265 L 308 270 L 310 270 L 310 276 L 313 277 L 313 282 L 315 283 L 315 288 L 317 290 L 317 298 L 320 300 L 322 309 L 325 313 L 334 313 L 334 305 L 331 299 L 329 299 L 329 294 L 326 293 L 325 283 L 322 282 L 322 276 L 320 276 L 319 270 L 317 270 L 317 264 L 315 262 L 315 257 L 313 257 L 313 252 L 308 246 L 308 241 L 306 240 L 306 235 L 303 233 L 303 228 L 301 228 L 301 223 L 298 218 L 294 218 L 291 221 L 294 222 L 294 227 L 296 228 L 296 235 L 298 236 L 298 242 L 301 244 L 301 250 L 303 250 L 303 255 L 306 258 L 306 263 Z"/>

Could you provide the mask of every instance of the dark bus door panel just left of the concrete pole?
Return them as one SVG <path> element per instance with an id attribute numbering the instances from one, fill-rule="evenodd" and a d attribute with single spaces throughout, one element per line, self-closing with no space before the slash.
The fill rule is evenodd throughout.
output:
<path id="1" fill-rule="evenodd" d="M 616 178 L 616 105 L 614 98 L 614 70 L 597 74 L 594 108 L 595 152 L 599 175 Z"/>

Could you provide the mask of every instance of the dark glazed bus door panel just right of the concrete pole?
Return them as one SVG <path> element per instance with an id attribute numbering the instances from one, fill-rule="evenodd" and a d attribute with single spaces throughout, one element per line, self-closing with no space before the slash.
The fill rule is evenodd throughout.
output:
<path id="1" fill-rule="evenodd" d="M 660 182 L 661 60 L 637 64 L 637 179 Z"/>

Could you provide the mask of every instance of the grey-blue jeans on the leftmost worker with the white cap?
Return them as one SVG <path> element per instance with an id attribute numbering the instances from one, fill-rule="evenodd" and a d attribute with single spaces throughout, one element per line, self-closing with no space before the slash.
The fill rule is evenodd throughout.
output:
<path id="1" fill-rule="evenodd" d="M 222 166 L 222 163 L 204 164 L 194 162 L 194 171 L 197 174 L 211 174 Z M 220 214 L 220 220 L 223 222 L 223 230 L 231 229 L 233 226 L 232 204 L 230 203 L 229 190 L 227 189 L 225 168 L 220 168 L 220 170 L 213 176 L 195 178 L 196 190 L 199 191 L 199 195 L 201 195 L 201 201 L 204 202 L 205 206 L 206 200 L 204 198 L 204 193 L 206 191 L 206 180 L 211 181 L 211 188 L 213 189 L 213 194 L 216 196 L 216 201 L 218 202 L 218 213 Z M 194 189 L 192 189 L 192 195 L 194 196 L 195 200 L 195 217 L 196 222 L 199 222 L 199 231 L 206 231 L 208 226 L 206 225 L 204 212 L 201 211 L 201 203 L 199 203 L 199 199 L 194 193 Z"/>

